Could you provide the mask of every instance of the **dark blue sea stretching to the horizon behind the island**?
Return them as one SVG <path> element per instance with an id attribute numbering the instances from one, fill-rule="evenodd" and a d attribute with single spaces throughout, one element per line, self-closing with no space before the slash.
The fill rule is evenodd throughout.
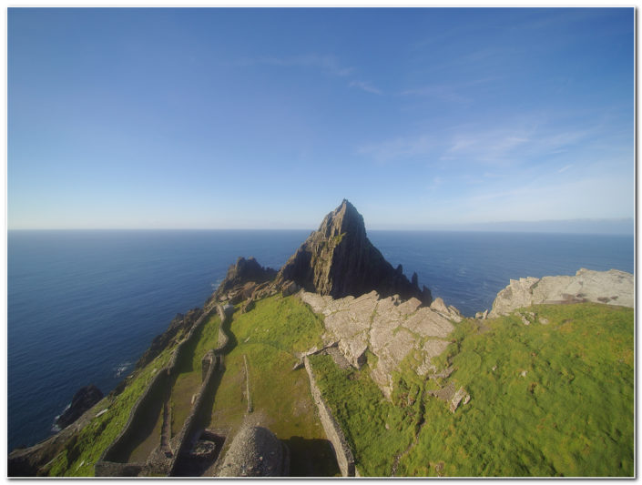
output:
<path id="1" fill-rule="evenodd" d="M 200 307 L 239 256 L 280 268 L 308 230 L 9 231 L 8 450 L 51 433 L 82 386 L 107 394 L 176 313 Z M 370 231 L 393 266 L 464 315 L 509 278 L 633 272 L 633 237 Z"/>

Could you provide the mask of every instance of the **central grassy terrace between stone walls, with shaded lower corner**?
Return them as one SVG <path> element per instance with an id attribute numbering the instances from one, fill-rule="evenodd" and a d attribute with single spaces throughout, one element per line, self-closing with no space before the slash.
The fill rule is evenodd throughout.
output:
<path id="1" fill-rule="evenodd" d="M 214 399 L 212 428 L 233 435 L 244 419 L 245 369 L 248 359 L 253 415 L 290 446 L 293 475 L 334 475 L 338 472 L 311 399 L 305 369 L 292 370 L 296 352 L 321 345 L 323 324 L 300 300 L 260 300 L 245 314 L 236 313 L 230 326 L 231 351 Z M 229 444 L 229 443 L 228 443 Z"/>

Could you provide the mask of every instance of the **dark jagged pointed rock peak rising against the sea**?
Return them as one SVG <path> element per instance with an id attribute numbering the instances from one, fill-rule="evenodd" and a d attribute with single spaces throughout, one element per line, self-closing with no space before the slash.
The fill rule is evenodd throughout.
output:
<path id="1" fill-rule="evenodd" d="M 359 297 L 376 290 L 382 297 L 414 297 L 424 305 L 433 299 L 428 288 L 419 288 L 416 273 L 411 282 L 403 275 L 402 265 L 392 268 L 383 258 L 366 237 L 362 215 L 346 199 L 323 217 L 319 229 L 280 268 L 277 280 L 291 280 L 307 291 L 333 298 Z"/>

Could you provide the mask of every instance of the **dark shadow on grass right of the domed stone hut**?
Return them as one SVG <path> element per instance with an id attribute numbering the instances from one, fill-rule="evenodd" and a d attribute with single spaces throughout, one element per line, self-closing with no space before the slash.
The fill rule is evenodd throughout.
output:
<path id="1" fill-rule="evenodd" d="M 281 441 L 290 449 L 290 477 L 341 477 L 329 440 L 292 436 Z"/>

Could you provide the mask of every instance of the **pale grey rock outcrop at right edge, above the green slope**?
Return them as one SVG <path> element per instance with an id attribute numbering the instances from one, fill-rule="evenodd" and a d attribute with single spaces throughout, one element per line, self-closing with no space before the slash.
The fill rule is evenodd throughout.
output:
<path id="1" fill-rule="evenodd" d="M 540 303 L 579 303 L 593 301 L 633 307 L 633 275 L 617 269 L 592 271 L 581 268 L 576 276 L 511 279 L 497 293 L 488 318 L 508 315 L 516 308 Z"/>

